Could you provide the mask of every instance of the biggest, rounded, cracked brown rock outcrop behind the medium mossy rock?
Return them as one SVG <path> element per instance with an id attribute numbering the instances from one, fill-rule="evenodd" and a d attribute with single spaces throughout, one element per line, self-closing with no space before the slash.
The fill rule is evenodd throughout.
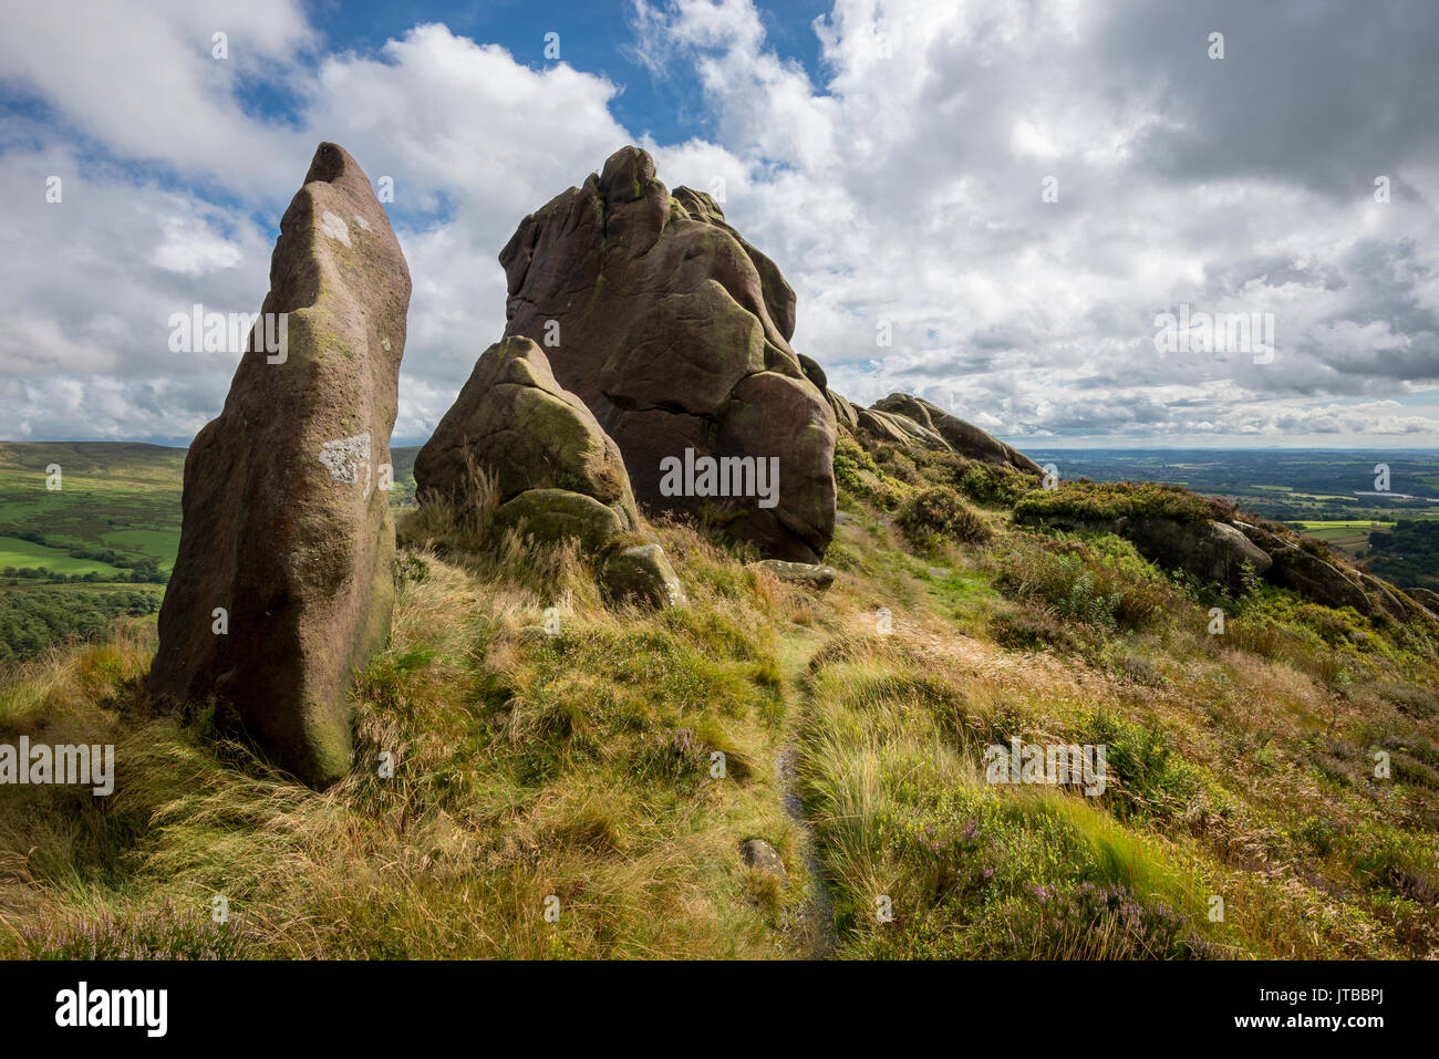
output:
<path id="1" fill-rule="evenodd" d="M 671 194 L 650 157 L 626 147 L 525 217 L 499 262 L 505 334 L 544 345 L 619 445 L 642 502 L 717 514 L 766 555 L 823 555 L 836 429 L 813 378 L 823 373 L 789 345 L 794 292 L 709 196 Z M 699 478 L 676 492 L 671 460 L 705 458 L 777 459 L 773 504 L 744 485 L 707 494 Z"/>

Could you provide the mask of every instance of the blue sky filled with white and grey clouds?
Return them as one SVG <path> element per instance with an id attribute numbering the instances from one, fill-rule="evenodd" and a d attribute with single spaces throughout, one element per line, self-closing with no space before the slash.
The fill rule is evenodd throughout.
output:
<path id="1" fill-rule="evenodd" d="M 524 216 L 637 144 L 853 401 L 1036 449 L 1439 446 L 1435 56 L 1432 0 L 4 4 L 0 437 L 187 443 L 239 354 L 170 318 L 259 309 L 330 140 L 393 180 L 396 443 L 499 338 Z"/>

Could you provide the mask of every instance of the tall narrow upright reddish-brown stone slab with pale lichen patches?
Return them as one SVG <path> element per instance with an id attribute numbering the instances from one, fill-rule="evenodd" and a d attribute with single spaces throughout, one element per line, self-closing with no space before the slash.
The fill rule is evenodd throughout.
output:
<path id="1" fill-rule="evenodd" d="M 350 676 L 390 630 L 386 489 L 409 302 L 370 181 L 321 144 L 271 259 L 262 312 L 285 328 L 262 317 L 186 458 L 145 689 L 170 705 L 213 695 L 222 719 L 317 787 L 350 768 Z M 258 341 L 266 319 L 283 350 Z"/>

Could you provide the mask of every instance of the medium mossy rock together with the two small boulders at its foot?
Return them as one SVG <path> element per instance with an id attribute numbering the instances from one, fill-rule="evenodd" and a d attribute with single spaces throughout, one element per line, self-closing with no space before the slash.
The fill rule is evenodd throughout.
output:
<path id="1" fill-rule="evenodd" d="M 633 541 L 640 519 L 619 447 L 528 338 L 505 338 L 481 354 L 414 458 L 422 502 L 475 502 L 476 472 L 495 481 L 495 531 L 547 544 L 577 540 L 613 601 L 684 601 L 663 550 Z"/>

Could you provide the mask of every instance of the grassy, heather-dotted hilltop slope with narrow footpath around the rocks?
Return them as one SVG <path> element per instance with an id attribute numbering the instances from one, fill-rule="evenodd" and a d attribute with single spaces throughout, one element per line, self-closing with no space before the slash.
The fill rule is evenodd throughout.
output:
<path id="1" fill-rule="evenodd" d="M 111 799 L 0 787 L 0 953 L 1436 953 L 1435 630 L 1209 599 L 1114 538 L 1012 527 L 1013 482 L 875 456 L 839 460 L 825 596 L 679 525 L 692 603 L 663 614 L 606 610 L 574 555 L 412 542 L 325 794 L 150 717 L 145 624 L 12 673 L 0 741 L 114 741 L 119 771 Z M 915 486 L 960 479 L 993 537 L 899 532 Z M 1109 790 L 986 784 L 1014 735 L 1105 744 Z M 787 885 L 744 868 L 751 836 Z"/>

